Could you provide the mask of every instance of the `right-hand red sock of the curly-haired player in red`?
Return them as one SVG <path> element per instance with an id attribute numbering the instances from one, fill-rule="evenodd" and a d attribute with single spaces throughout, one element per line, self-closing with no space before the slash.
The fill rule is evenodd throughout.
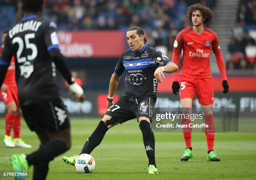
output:
<path id="1" fill-rule="evenodd" d="M 205 136 L 207 139 L 208 151 L 213 150 L 214 138 L 215 138 L 215 125 L 213 120 L 213 114 L 206 115 L 205 125 L 208 125 L 208 128 L 205 127 Z"/>

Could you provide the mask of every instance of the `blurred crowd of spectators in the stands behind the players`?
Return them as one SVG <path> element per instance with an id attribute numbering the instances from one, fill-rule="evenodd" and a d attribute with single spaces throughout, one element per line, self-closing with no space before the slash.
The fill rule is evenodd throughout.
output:
<path id="1" fill-rule="evenodd" d="M 43 16 L 59 30 L 126 31 L 138 25 L 145 30 L 147 45 L 171 57 L 177 33 L 190 25 L 187 7 L 198 2 L 213 9 L 216 0 L 45 0 Z M 21 0 L 2 0 L 0 5 L 14 5 L 16 21 L 23 17 Z M 256 0 L 241 0 L 225 55 L 228 70 L 255 69 L 255 40 L 249 33 L 255 24 Z"/>

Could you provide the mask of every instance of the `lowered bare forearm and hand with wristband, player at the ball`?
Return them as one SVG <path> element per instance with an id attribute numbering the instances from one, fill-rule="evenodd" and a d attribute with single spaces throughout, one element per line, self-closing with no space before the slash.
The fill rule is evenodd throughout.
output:
<path id="1" fill-rule="evenodd" d="M 113 95 L 115 93 L 116 88 L 118 87 L 119 80 L 120 80 L 120 76 L 117 76 L 117 75 L 115 75 L 115 73 L 113 73 L 113 75 L 110 78 L 110 82 L 109 82 L 107 108 L 109 108 L 110 106 L 112 106 L 114 104 L 113 103 Z"/>

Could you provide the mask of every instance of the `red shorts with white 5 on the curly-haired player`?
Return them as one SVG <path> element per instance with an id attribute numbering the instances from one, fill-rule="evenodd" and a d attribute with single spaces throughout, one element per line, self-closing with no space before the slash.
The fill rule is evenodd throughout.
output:
<path id="1" fill-rule="evenodd" d="M 194 99 L 195 92 L 197 93 L 198 102 L 201 105 L 209 105 L 214 102 L 214 91 L 212 77 L 203 79 L 180 77 L 179 79 L 179 98 Z"/>

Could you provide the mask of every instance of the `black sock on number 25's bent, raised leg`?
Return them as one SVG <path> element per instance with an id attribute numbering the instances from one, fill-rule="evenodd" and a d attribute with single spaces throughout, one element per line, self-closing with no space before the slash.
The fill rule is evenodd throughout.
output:
<path id="1" fill-rule="evenodd" d="M 27 155 L 28 165 L 46 163 L 53 160 L 57 155 L 67 151 L 67 145 L 62 140 L 52 140 L 41 145 L 41 147 L 30 155 Z"/>

